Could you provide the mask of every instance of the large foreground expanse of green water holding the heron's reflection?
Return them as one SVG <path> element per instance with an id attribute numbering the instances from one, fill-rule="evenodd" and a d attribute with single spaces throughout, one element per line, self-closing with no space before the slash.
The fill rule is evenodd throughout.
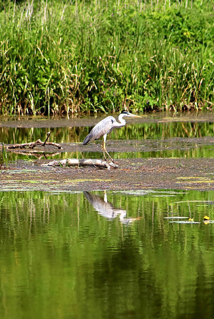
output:
<path id="1" fill-rule="evenodd" d="M 213 198 L 0 193 L 1 318 L 212 318 Z"/>

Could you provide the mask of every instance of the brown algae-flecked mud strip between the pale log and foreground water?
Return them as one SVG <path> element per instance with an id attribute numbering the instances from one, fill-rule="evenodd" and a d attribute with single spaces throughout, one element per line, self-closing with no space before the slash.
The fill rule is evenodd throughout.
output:
<path id="1" fill-rule="evenodd" d="M 40 163 L 44 163 L 42 161 Z M 82 191 L 95 189 L 214 190 L 214 159 L 126 159 L 118 169 L 46 167 L 19 160 L 0 171 L 7 190 Z"/>

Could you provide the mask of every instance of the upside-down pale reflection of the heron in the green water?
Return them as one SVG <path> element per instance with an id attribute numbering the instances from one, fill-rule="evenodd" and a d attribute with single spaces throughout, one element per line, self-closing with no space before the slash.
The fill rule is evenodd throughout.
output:
<path id="1" fill-rule="evenodd" d="M 112 203 L 107 201 L 106 192 L 104 193 L 104 198 L 101 198 L 97 195 L 92 194 L 91 192 L 84 191 L 83 194 L 85 198 L 92 204 L 94 209 L 103 217 L 108 219 L 114 219 L 119 215 L 120 221 L 124 224 L 131 223 L 135 220 L 141 219 L 141 217 L 137 218 L 126 218 L 126 210 L 121 208 L 116 208 Z"/>

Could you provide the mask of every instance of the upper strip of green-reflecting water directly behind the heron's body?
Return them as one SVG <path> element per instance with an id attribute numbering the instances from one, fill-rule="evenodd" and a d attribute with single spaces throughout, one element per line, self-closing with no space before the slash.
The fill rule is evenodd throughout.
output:
<path id="1" fill-rule="evenodd" d="M 57 127 L 57 128 L 11 128 L 0 127 L 0 139 L 6 144 L 26 143 L 46 138 L 52 131 L 51 141 L 56 143 L 81 142 L 92 127 Z M 122 129 L 115 129 L 109 139 L 163 139 L 171 137 L 204 137 L 214 135 L 213 122 L 159 122 L 127 123 Z"/>

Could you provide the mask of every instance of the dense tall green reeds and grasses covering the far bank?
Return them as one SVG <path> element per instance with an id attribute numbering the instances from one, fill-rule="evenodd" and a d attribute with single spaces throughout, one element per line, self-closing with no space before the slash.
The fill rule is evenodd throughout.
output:
<path id="1" fill-rule="evenodd" d="M 1 3 L 0 114 L 213 108 L 211 1 Z"/>

